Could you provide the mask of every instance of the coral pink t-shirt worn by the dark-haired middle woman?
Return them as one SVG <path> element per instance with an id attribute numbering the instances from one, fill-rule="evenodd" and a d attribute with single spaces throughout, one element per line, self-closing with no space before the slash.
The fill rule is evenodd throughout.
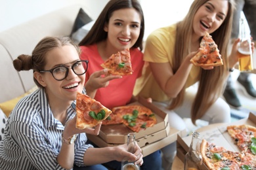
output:
<path id="1" fill-rule="evenodd" d="M 106 41 L 105 41 L 106 42 Z M 141 75 L 142 67 L 144 61 L 142 60 L 142 52 L 139 48 L 131 48 L 131 63 L 133 68 L 133 75 L 127 76 L 106 76 L 102 78 L 101 75 L 106 74 L 107 70 L 102 70 L 100 66 L 101 63 L 104 63 L 106 58 L 111 56 L 111 54 L 106 58 L 100 55 L 100 43 L 95 43 L 89 46 L 81 46 L 81 59 L 89 60 L 89 67 L 87 69 L 87 76 L 85 89 L 87 90 L 88 95 L 94 97 L 96 101 L 100 101 L 102 105 L 112 109 L 113 107 L 123 106 L 130 103 L 131 97 L 133 95 L 133 87 L 135 86 L 135 80 L 137 77 Z M 129 44 L 125 44 L 124 46 L 131 46 Z M 119 48 L 120 50 L 123 48 Z M 104 50 L 103 50 L 104 51 Z M 107 51 L 107 50 L 106 50 Z M 118 52 L 119 50 L 116 50 Z M 113 52 L 112 53 L 116 53 Z M 95 73 L 93 75 L 93 73 Z M 96 80 L 98 80 L 99 86 L 95 86 L 95 83 L 91 81 L 87 81 L 91 76 L 93 76 Z M 109 82 L 109 78 L 111 82 Z M 112 80 L 114 78 L 114 80 Z M 95 80 L 94 80 L 95 81 Z M 103 84 L 103 85 L 102 85 Z M 92 85 L 92 86 L 91 86 Z M 104 87 L 104 88 L 101 88 Z M 95 96 L 91 94 L 91 92 L 95 93 Z"/>

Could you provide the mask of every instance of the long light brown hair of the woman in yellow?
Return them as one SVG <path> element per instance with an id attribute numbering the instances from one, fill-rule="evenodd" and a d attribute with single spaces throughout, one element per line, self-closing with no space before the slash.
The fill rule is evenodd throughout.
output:
<path id="1" fill-rule="evenodd" d="M 191 52 L 190 43 L 187 42 L 191 42 L 192 39 L 193 19 L 198 9 L 207 1 L 209 0 L 194 0 L 184 20 L 177 24 L 174 52 L 175 59 L 173 64 L 174 73 L 179 69 L 182 60 Z M 211 33 L 211 36 L 218 45 L 224 65 L 215 67 L 213 70 L 200 69 L 200 84 L 191 108 L 191 119 L 193 124 L 196 124 L 196 120 L 202 118 L 207 109 L 209 109 L 217 98 L 221 96 L 228 75 L 228 42 L 232 29 L 235 3 L 234 0 L 223 1 L 228 1 L 228 13 L 223 24 L 221 24 L 216 31 Z M 169 109 L 175 109 L 181 105 L 184 99 L 184 93 L 185 87 L 183 87 L 179 95 L 173 99 Z"/>

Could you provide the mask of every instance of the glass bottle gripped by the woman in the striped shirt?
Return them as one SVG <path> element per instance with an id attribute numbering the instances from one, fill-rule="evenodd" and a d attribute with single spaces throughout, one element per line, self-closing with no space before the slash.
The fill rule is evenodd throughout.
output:
<path id="1" fill-rule="evenodd" d="M 129 133 L 127 135 L 127 151 L 131 153 L 135 153 L 135 134 Z M 135 161 L 129 161 L 128 159 L 124 159 L 121 162 L 121 169 L 122 170 L 139 170 L 139 165 L 135 165 Z"/>

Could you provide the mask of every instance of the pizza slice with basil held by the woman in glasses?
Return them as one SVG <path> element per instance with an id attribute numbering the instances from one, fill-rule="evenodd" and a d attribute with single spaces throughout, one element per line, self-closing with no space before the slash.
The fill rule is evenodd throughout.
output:
<path id="1" fill-rule="evenodd" d="M 77 114 L 77 129 L 95 127 L 112 113 L 110 109 L 104 107 L 100 102 L 79 92 L 77 92 L 75 110 Z"/>

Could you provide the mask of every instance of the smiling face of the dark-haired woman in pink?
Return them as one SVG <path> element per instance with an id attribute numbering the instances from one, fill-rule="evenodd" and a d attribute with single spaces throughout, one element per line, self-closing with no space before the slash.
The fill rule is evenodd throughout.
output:
<path id="1" fill-rule="evenodd" d="M 117 51 L 131 48 L 140 35 L 140 14 L 135 9 L 119 9 L 112 13 L 105 25 L 107 44 Z"/>

